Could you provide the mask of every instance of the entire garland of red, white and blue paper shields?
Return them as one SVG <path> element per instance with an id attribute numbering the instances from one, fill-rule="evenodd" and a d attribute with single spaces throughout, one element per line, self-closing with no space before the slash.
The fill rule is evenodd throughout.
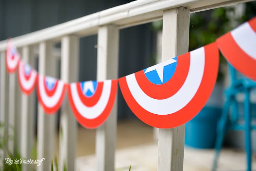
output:
<path id="1" fill-rule="evenodd" d="M 11 40 L 7 41 L 6 70 L 18 68 L 20 89 L 30 95 L 37 85 L 40 105 L 47 114 L 56 113 L 68 90 L 71 109 L 86 128 L 97 128 L 108 118 L 119 83 L 131 111 L 157 128 L 173 128 L 195 117 L 209 99 L 216 82 L 218 48 L 231 65 L 256 80 L 256 17 L 224 34 L 216 42 L 174 57 L 118 80 L 67 84 L 39 75 L 20 60 Z"/>

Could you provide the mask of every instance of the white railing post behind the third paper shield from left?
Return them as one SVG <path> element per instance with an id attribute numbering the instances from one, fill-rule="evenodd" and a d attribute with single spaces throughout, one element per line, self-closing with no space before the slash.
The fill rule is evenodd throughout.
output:
<path id="1" fill-rule="evenodd" d="M 41 42 L 39 44 L 39 66 L 38 71 L 41 75 L 57 77 L 57 60 L 52 54 L 53 44 L 51 42 Z M 55 114 L 47 115 L 43 108 L 38 104 L 38 147 L 37 158 L 45 158 L 38 171 L 49 171 L 51 161 L 54 157 L 54 139 L 56 132 Z"/>

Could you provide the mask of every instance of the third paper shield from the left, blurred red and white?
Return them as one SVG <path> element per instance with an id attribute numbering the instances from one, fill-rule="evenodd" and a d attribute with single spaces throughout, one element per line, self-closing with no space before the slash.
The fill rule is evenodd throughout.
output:
<path id="1" fill-rule="evenodd" d="M 52 77 L 38 76 L 38 101 L 45 113 L 53 114 L 59 110 L 65 96 L 66 87 L 67 85 L 63 81 Z"/>

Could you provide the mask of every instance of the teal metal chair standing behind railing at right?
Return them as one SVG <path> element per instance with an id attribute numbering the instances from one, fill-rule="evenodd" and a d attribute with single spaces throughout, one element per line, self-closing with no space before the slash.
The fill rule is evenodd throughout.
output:
<path id="1" fill-rule="evenodd" d="M 227 130 L 244 130 L 245 131 L 245 152 L 247 159 L 247 171 L 251 171 L 251 130 L 256 129 L 256 125 L 252 125 L 252 113 L 250 92 L 256 88 L 256 82 L 245 77 L 237 78 L 237 71 L 228 64 L 230 86 L 225 90 L 225 102 L 222 110 L 222 115 L 217 125 L 217 137 L 215 142 L 215 157 L 213 161 L 212 171 L 216 170 L 218 156 L 223 144 L 223 139 Z M 243 101 L 243 123 L 240 123 L 239 105 L 237 101 L 237 94 L 244 94 Z"/>

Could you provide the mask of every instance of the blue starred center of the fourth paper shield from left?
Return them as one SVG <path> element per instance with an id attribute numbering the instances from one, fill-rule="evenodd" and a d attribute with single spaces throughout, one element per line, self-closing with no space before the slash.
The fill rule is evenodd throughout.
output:
<path id="1" fill-rule="evenodd" d="M 91 97 L 95 94 L 97 85 L 97 81 L 80 82 L 81 89 L 86 97 Z"/>

